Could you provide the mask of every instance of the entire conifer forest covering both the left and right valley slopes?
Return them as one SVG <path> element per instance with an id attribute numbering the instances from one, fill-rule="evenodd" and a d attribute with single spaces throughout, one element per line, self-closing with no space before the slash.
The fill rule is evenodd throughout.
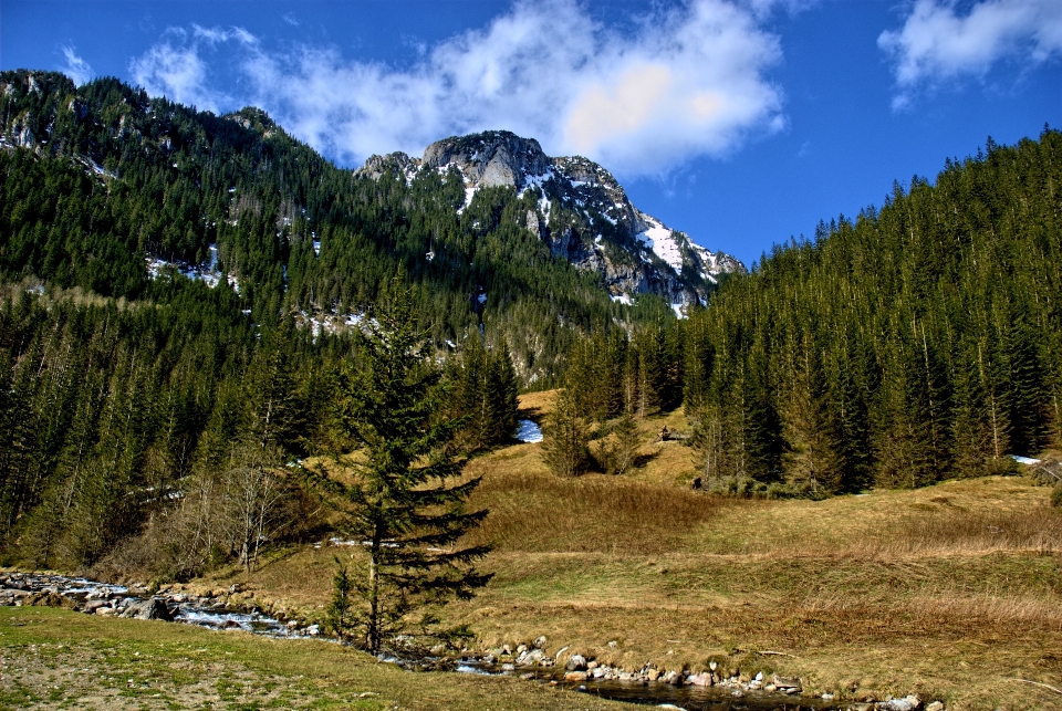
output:
<path id="1" fill-rule="evenodd" d="M 344 170 L 258 109 L 43 72 L 0 91 L 3 561 L 181 577 L 319 533 L 295 472 L 336 446 L 357 320 L 396 273 L 466 451 L 553 385 L 565 473 L 617 418 L 681 406 L 706 485 L 741 494 L 919 487 L 1059 442 L 1056 130 L 896 184 L 678 320 L 552 257 L 519 222 L 533 191 L 458 212 L 459 176 Z M 214 250 L 217 285 L 181 273 Z"/>

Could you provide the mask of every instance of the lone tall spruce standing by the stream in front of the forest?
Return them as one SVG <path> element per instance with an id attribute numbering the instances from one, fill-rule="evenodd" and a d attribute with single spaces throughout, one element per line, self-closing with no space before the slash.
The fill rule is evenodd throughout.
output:
<path id="1" fill-rule="evenodd" d="M 360 366 L 348 368 L 341 384 L 337 424 L 360 451 L 336 457 L 345 481 L 315 475 L 345 533 L 363 542 L 354 556 L 362 575 L 336 576 L 344 587 L 336 589 L 331 616 L 339 634 L 373 654 L 414 627 L 424 636 L 440 634 L 434 608 L 471 598 L 491 577 L 473 566 L 487 546 L 455 547 L 487 511 L 465 510 L 479 479 L 458 481 L 466 459 L 454 438 L 461 422 L 440 417 L 447 389 L 423 357 L 400 273 L 384 299 L 360 339 Z"/>

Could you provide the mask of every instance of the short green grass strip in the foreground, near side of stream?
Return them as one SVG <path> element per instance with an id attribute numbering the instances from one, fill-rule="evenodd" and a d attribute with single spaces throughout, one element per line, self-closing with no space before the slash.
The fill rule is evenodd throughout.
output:
<path id="1" fill-rule="evenodd" d="M 0 709 L 622 709 L 517 679 L 415 673 L 323 640 L 0 608 Z"/>

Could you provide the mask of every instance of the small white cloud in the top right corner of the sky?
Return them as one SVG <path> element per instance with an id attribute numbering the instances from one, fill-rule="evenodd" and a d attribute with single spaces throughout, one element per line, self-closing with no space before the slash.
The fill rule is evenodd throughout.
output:
<path id="1" fill-rule="evenodd" d="M 1039 64 L 1062 54 L 1062 2 L 980 0 L 960 13 L 955 0 L 916 0 L 904 27 L 877 44 L 895 62 L 899 108 L 920 85 L 983 76 L 1003 59 Z"/>

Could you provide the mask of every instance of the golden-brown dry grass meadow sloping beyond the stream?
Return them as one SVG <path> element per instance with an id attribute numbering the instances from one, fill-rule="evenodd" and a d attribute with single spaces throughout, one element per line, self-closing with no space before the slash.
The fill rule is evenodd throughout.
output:
<path id="1" fill-rule="evenodd" d="M 521 400 L 535 419 L 549 404 Z M 470 624 L 480 649 L 545 635 L 551 652 L 627 668 L 711 658 L 843 699 L 1062 709 L 1047 688 L 1062 689 L 1062 510 L 1048 488 L 995 477 L 819 502 L 715 498 L 689 488 L 691 451 L 658 441 L 665 422 L 685 428 L 680 412 L 645 421 L 643 466 L 624 477 L 558 479 L 539 445 L 473 460 L 475 504 L 491 514 L 469 542 L 494 544 L 494 578 L 448 620 Z M 191 587 L 239 581 L 312 617 L 336 554 L 350 552 L 292 548 Z"/>

